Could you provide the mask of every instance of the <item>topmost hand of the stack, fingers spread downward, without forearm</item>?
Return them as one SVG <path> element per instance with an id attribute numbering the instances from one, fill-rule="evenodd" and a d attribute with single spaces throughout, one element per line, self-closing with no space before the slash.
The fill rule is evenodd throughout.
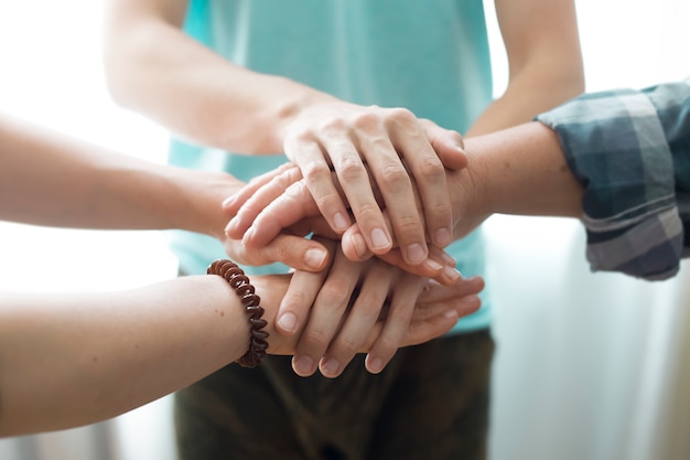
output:
<path id="1" fill-rule="evenodd" d="M 418 119 L 407 109 L 332 99 L 299 114 L 287 126 L 283 139 L 285 154 L 300 168 L 334 232 L 343 233 L 352 225 L 349 208 L 371 253 L 390 250 L 395 235 L 409 265 L 427 258 L 428 239 L 439 247 L 451 243 L 444 165 L 465 165 L 459 133 Z M 345 201 L 333 183 L 332 169 Z M 393 235 L 385 225 L 370 182 L 380 191 Z M 421 213 L 410 206 L 416 194 L 422 202 Z"/>

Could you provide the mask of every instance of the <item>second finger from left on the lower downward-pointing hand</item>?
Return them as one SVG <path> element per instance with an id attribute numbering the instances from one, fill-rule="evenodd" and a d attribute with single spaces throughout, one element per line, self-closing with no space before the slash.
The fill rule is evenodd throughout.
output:
<path id="1" fill-rule="evenodd" d="M 341 327 L 362 271 L 362 264 L 347 260 L 335 250 L 333 265 L 310 310 L 292 360 L 298 375 L 309 376 Z"/>

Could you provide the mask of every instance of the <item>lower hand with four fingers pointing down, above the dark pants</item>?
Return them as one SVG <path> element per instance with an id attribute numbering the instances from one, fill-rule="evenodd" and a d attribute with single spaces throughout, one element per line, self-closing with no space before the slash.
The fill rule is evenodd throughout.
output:
<path id="1" fill-rule="evenodd" d="M 353 263 L 335 242 L 324 245 L 335 252 L 330 269 L 294 272 L 277 315 L 280 332 L 300 335 L 293 359 L 299 375 L 312 375 L 319 366 L 323 375 L 335 377 L 362 350 L 369 352 L 367 368 L 378 373 L 399 346 L 431 339 L 425 333 L 410 334 L 412 319 L 421 313 L 416 308 L 418 302 L 434 303 L 434 308 L 435 302 L 448 302 L 445 308 L 456 309 L 460 315 L 479 307 L 479 299 L 473 295 L 483 288 L 481 278 L 463 280 L 452 288 L 433 284 L 433 290 L 420 298 L 428 286 L 424 278 L 377 258 Z M 371 342 L 374 329 L 378 333 Z"/>

